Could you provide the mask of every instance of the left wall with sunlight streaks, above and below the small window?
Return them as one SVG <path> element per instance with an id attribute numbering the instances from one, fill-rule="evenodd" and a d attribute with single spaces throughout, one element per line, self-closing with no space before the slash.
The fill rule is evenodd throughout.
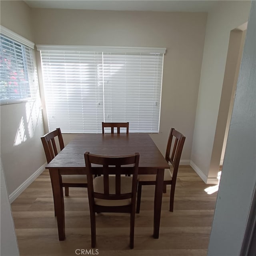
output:
<path id="1" fill-rule="evenodd" d="M 34 41 L 31 10 L 23 1 L 1 1 L 2 26 Z M 9 195 L 45 162 L 39 102 L 0 106 L 1 160 Z"/>

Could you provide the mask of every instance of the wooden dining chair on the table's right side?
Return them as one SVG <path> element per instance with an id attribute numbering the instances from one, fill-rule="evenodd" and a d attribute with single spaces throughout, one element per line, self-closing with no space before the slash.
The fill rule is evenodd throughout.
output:
<path id="1" fill-rule="evenodd" d="M 174 143 L 172 145 L 172 139 L 175 138 Z M 170 212 L 173 212 L 173 204 L 174 204 L 174 192 L 176 179 L 178 174 L 178 168 L 180 164 L 180 156 L 182 153 L 182 148 L 184 145 L 186 137 L 184 137 L 180 132 L 171 128 L 170 135 L 167 142 L 165 160 L 171 163 L 173 170 L 170 169 L 164 170 L 164 192 L 166 192 L 166 185 L 171 185 L 170 192 Z M 172 155 L 170 156 L 172 148 Z M 156 185 L 156 175 L 152 174 L 141 174 L 138 175 L 138 196 L 137 196 L 137 208 L 136 212 L 140 212 L 140 199 L 141 199 L 141 190 L 142 185 Z"/>

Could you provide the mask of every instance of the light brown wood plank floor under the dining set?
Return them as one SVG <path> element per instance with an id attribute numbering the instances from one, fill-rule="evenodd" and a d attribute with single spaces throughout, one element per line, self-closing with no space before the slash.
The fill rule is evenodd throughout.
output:
<path id="1" fill-rule="evenodd" d="M 154 186 L 143 186 L 134 249 L 129 248 L 129 214 L 102 213 L 96 215 L 98 251 L 92 251 L 87 188 L 70 188 L 64 197 L 66 240 L 59 241 L 46 170 L 11 205 L 20 256 L 83 255 L 81 249 L 104 256 L 206 256 L 217 195 L 204 191 L 209 186 L 190 166 L 180 166 L 174 212 L 168 211 L 170 186 L 163 194 L 159 239 L 152 237 Z"/>

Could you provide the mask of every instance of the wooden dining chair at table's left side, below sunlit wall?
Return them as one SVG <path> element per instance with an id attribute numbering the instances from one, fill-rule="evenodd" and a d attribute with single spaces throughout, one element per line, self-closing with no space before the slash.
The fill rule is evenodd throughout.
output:
<path id="1" fill-rule="evenodd" d="M 58 155 L 58 151 L 61 151 L 64 148 L 64 142 L 63 142 L 60 128 L 57 128 L 52 132 L 48 132 L 47 134 L 41 137 L 41 140 L 44 147 L 46 160 L 47 160 L 47 163 L 49 164 L 52 161 L 52 159 Z M 62 187 L 65 188 L 65 196 L 69 195 L 69 187 L 76 187 L 76 188 L 87 187 L 87 177 L 85 174 L 82 174 L 82 175 L 67 174 L 67 175 L 61 175 L 61 178 L 62 178 Z M 55 206 L 54 206 L 54 210 L 55 210 Z"/>

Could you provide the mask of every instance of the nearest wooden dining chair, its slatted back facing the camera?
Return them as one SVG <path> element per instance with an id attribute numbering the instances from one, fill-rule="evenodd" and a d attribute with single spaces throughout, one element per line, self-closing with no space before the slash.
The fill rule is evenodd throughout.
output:
<path id="1" fill-rule="evenodd" d="M 130 156 L 98 156 L 89 152 L 84 154 L 88 180 L 92 248 L 96 246 L 95 212 L 130 213 L 130 248 L 134 247 L 139 158 L 138 153 Z M 97 167 L 93 167 L 92 164 L 97 164 Z M 93 178 L 95 174 L 101 176 Z M 132 177 L 122 174 L 132 174 Z"/>

